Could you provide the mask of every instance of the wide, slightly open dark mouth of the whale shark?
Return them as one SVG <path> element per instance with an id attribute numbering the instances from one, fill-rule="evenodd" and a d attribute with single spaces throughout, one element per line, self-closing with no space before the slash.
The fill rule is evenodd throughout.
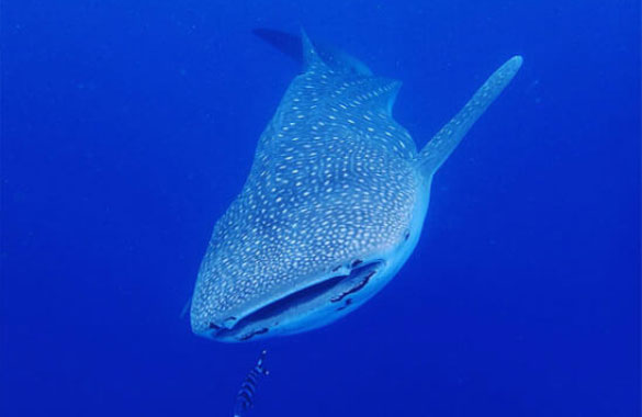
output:
<path id="1" fill-rule="evenodd" d="M 341 311 L 352 303 L 353 294 L 363 290 L 383 264 L 383 260 L 354 260 L 349 273 L 329 277 L 277 298 L 241 317 L 229 328 L 212 324 L 210 327 L 215 330 L 212 336 L 216 339 L 249 340 L 267 334 L 282 320 L 314 314 L 328 305 L 336 306 L 333 311 Z M 340 269 L 337 267 L 335 271 Z"/>

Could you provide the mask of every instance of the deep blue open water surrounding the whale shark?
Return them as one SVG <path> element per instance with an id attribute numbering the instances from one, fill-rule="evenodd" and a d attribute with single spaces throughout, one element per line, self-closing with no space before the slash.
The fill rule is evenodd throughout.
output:
<path id="1" fill-rule="evenodd" d="M 640 414 L 638 1 L 2 4 L 2 416 Z M 514 54 L 392 283 L 319 330 L 224 345 L 180 312 L 300 70 L 255 27 L 401 79 L 419 146 Z"/>

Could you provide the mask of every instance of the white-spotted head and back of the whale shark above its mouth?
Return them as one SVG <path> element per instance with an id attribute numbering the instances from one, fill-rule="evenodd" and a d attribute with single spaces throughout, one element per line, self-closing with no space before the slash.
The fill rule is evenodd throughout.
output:
<path id="1" fill-rule="evenodd" d="M 418 204 L 427 207 L 432 173 L 420 169 L 413 139 L 391 115 L 401 82 L 331 67 L 306 36 L 303 47 L 305 71 L 214 226 L 191 307 L 199 335 L 215 337 L 337 266 L 394 252 L 408 240 Z M 267 327 L 252 331 L 237 340 L 268 336 Z"/>

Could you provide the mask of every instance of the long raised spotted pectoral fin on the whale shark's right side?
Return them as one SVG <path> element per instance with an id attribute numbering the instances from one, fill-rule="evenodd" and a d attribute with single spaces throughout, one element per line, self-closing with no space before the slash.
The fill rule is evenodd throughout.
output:
<path id="1" fill-rule="evenodd" d="M 463 109 L 428 142 L 418 157 L 424 174 L 431 177 L 441 167 L 472 125 L 508 86 L 521 63 L 522 58 L 519 55 L 508 59 L 493 72 Z"/>

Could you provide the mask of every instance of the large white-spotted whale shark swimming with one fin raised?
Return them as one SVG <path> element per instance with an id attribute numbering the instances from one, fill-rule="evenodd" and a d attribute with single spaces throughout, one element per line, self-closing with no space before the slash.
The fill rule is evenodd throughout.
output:
<path id="1" fill-rule="evenodd" d="M 399 81 L 304 32 L 289 38 L 303 71 L 214 225 L 192 296 L 192 330 L 214 340 L 318 328 L 382 290 L 417 245 L 435 172 L 522 63 L 502 65 L 417 151 L 392 115 Z"/>

